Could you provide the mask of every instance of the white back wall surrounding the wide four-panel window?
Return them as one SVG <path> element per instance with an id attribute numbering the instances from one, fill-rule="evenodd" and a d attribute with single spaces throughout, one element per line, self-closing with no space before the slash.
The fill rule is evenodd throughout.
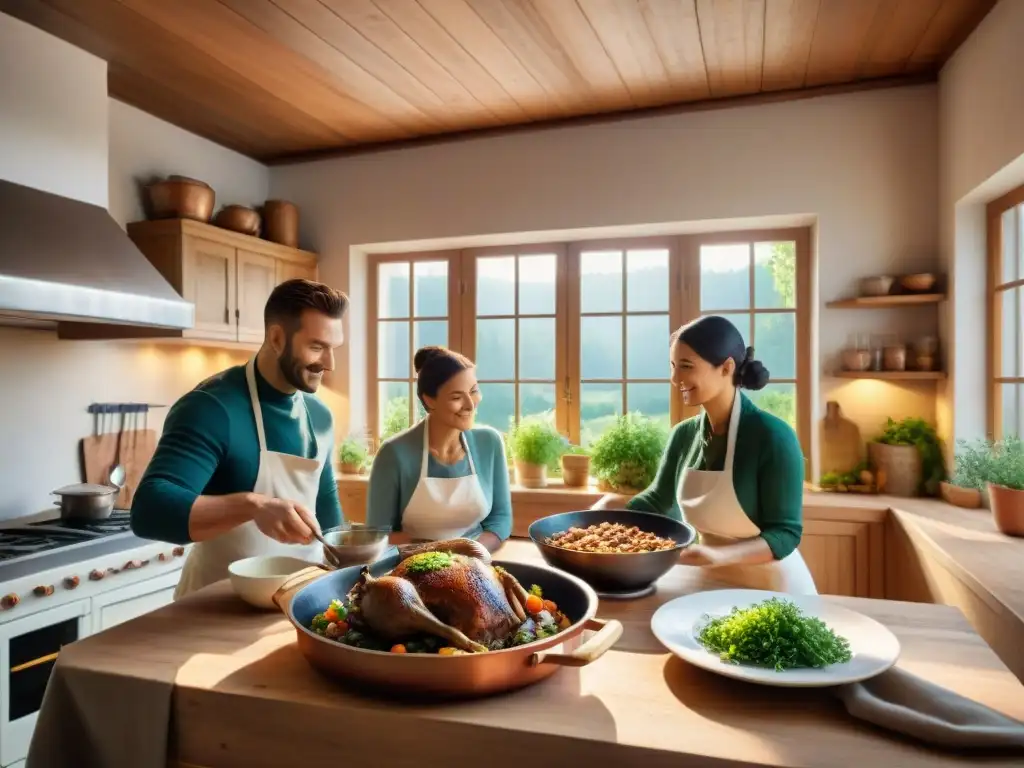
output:
<path id="1" fill-rule="evenodd" d="M 809 214 L 819 300 L 858 278 L 937 264 L 937 93 L 877 90 L 730 110 L 548 128 L 271 169 L 296 202 L 321 273 L 353 300 L 352 426 L 366 419 L 366 256 L 359 246 L 549 229 Z M 934 331 L 935 310 L 820 308 L 820 364 L 854 331 Z M 887 415 L 934 417 L 934 386 L 824 379 L 874 432 Z M 880 392 L 882 394 L 880 394 Z"/>

